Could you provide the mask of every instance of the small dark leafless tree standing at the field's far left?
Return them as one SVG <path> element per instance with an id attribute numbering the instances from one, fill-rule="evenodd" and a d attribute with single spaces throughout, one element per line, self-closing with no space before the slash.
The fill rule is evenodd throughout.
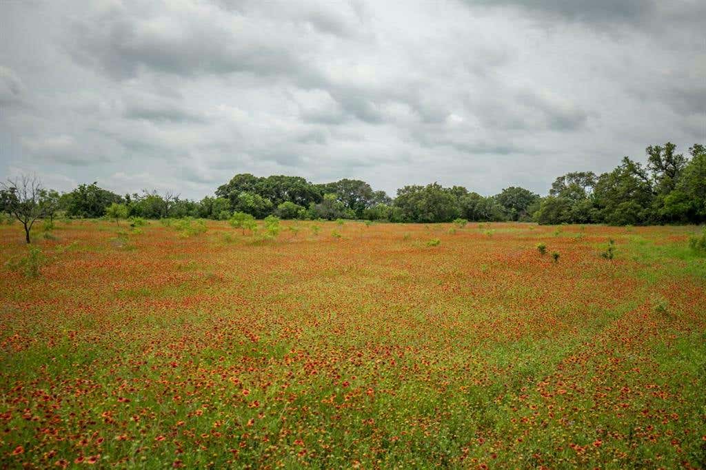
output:
<path id="1" fill-rule="evenodd" d="M 37 219 L 55 210 L 52 200 L 46 197 L 42 181 L 37 176 L 18 176 L 0 183 L 0 205 L 25 227 L 25 241 L 30 243 L 30 231 Z"/>

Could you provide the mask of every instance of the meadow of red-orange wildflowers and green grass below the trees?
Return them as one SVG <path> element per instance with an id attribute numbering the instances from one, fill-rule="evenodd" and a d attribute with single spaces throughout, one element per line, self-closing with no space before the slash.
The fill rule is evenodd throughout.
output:
<path id="1" fill-rule="evenodd" d="M 0 467 L 706 466 L 696 227 L 197 228 L 0 227 Z"/>

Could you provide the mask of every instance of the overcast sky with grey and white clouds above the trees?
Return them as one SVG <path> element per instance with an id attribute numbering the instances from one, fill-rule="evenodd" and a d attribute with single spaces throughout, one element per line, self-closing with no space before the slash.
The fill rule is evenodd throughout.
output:
<path id="1" fill-rule="evenodd" d="M 703 0 L 1 0 L 0 179 L 546 194 L 706 140 Z"/>

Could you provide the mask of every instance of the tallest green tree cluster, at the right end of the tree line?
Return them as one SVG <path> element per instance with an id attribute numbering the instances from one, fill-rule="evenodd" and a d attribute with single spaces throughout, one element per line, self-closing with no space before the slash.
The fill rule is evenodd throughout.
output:
<path id="1" fill-rule="evenodd" d="M 645 167 L 628 157 L 609 173 L 568 173 L 554 181 L 534 219 L 540 224 L 681 224 L 706 222 L 706 149 L 647 147 Z"/>

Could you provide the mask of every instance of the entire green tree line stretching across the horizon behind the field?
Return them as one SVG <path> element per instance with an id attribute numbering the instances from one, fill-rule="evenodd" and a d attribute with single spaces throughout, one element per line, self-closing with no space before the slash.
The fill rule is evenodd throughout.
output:
<path id="1" fill-rule="evenodd" d="M 539 224 L 666 224 L 706 222 L 706 150 L 695 144 L 689 155 L 676 145 L 647 147 L 647 164 L 624 157 L 613 171 L 578 171 L 559 176 L 541 197 L 510 186 L 483 196 L 463 186 L 409 185 L 395 198 L 373 191 L 365 181 L 341 179 L 316 184 L 299 176 L 237 174 L 200 201 L 177 193 L 143 191 L 119 195 L 97 183 L 73 191 L 47 190 L 36 179 L 8 180 L 0 208 L 25 224 L 57 214 L 104 217 L 108 207 L 127 217 L 229 219 L 243 212 L 258 219 L 369 219 L 388 222 L 535 221 Z M 115 206 L 119 207 L 115 207 Z M 29 232 L 27 230 L 27 232 Z"/>

